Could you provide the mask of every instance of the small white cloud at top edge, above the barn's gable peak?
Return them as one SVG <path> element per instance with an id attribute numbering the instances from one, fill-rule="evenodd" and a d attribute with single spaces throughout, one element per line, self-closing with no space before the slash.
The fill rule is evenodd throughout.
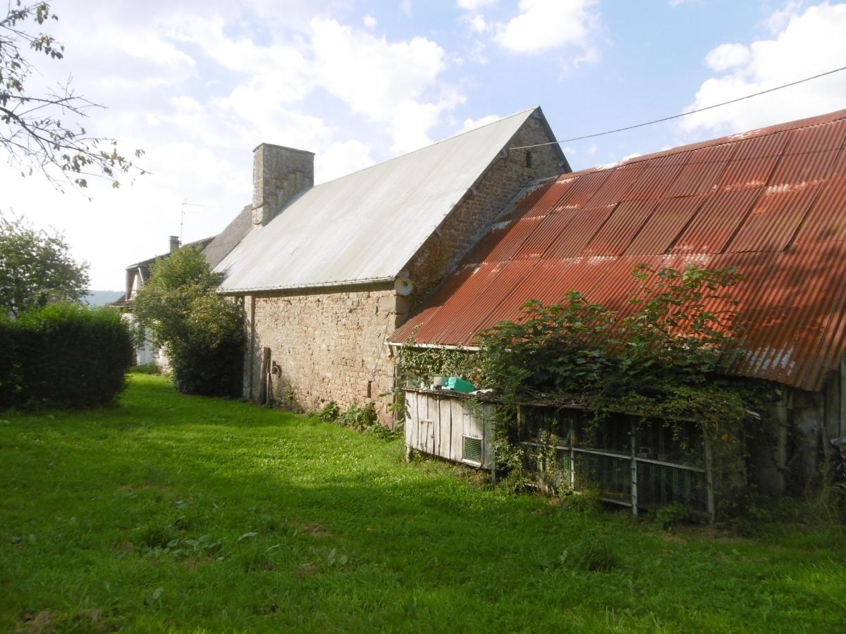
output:
<path id="1" fill-rule="evenodd" d="M 558 48 L 581 50 L 596 59 L 599 11 L 596 0 L 520 0 L 519 14 L 498 25 L 497 41 L 510 51 L 538 53 Z"/>

